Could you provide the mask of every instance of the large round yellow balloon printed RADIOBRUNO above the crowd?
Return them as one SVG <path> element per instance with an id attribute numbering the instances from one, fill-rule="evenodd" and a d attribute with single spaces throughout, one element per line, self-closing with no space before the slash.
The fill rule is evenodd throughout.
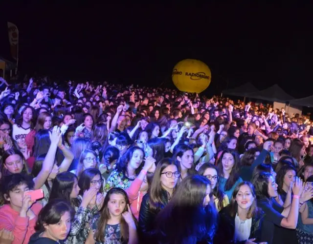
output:
<path id="1" fill-rule="evenodd" d="M 172 80 L 179 91 L 200 93 L 211 82 L 211 70 L 200 60 L 182 60 L 175 65 Z"/>

